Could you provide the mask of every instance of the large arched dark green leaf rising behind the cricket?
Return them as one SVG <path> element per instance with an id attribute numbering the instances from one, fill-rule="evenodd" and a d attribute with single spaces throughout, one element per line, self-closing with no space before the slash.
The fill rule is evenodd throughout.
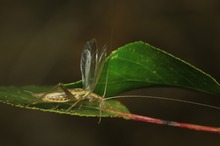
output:
<path id="1" fill-rule="evenodd" d="M 178 87 L 220 95 L 220 85 L 213 77 L 141 41 L 122 46 L 108 57 L 95 90 L 99 95 L 105 88 L 107 70 L 107 96 L 149 87 Z"/>

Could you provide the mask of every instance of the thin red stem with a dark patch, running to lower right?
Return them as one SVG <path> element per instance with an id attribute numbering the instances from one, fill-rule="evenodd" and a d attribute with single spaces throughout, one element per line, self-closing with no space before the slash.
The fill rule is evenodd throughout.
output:
<path id="1" fill-rule="evenodd" d="M 141 121 L 145 123 L 153 123 L 153 124 L 159 124 L 159 125 L 168 125 L 172 127 L 186 128 L 186 129 L 206 131 L 206 132 L 220 134 L 220 128 L 217 128 L 217 127 L 201 126 L 201 125 L 196 125 L 196 124 L 180 123 L 180 122 L 174 122 L 174 121 L 166 121 L 166 120 L 161 120 L 157 118 L 140 116 L 140 115 L 135 115 L 135 114 L 130 114 L 130 113 L 123 113 L 120 111 L 115 111 L 115 110 L 110 110 L 110 109 L 103 109 L 103 110 L 111 112 L 111 113 L 115 113 L 124 118 L 131 119 L 134 121 Z"/>

